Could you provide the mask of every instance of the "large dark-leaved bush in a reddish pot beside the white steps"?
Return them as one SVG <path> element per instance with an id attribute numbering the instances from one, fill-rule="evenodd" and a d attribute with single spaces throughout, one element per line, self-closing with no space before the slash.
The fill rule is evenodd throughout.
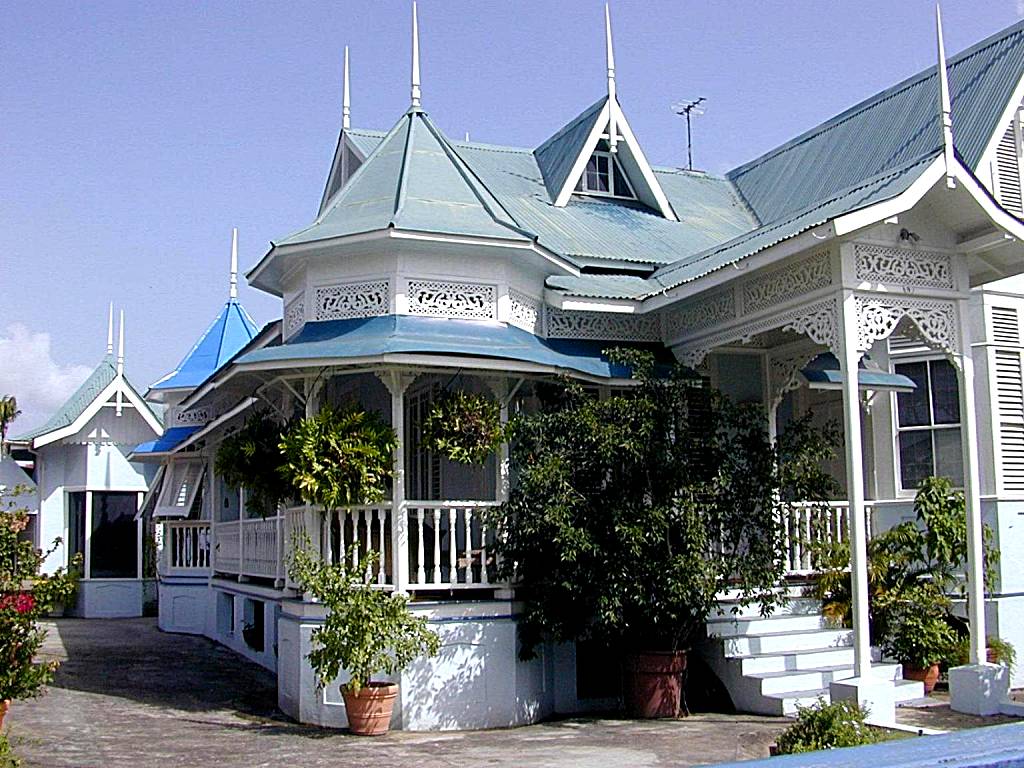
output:
<path id="1" fill-rule="evenodd" d="M 763 414 L 692 374 L 612 356 L 634 372 L 628 395 L 564 382 L 509 424 L 516 477 L 488 524 L 524 600 L 520 654 L 549 639 L 600 643 L 624 659 L 633 715 L 676 717 L 687 650 L 719 594 L 766 613 L 780 599 L 772 512 L 779 498 L 828 498 L 818 460 L 829 440 L 805 421 L 773 443 Z"/>

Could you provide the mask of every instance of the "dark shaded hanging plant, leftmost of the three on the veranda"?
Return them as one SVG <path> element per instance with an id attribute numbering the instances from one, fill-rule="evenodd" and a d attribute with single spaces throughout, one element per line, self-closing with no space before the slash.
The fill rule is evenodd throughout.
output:
<path id="1" fill-rule="evenodd" d="M 266 515 L 293 496 L 281 475 L 281 424 L 257 413 L 217 449 L 214 471 L 230 487 L 246 489 L 246 509 L 254 514 Z"/>

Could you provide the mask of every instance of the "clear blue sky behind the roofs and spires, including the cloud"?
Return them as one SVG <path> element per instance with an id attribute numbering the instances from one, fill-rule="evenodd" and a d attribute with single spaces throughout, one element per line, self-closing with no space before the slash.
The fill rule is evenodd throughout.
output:
<path id="1" fill-rule="evenodd" d="M 669 106 L 706 96 L 695 165 L 722 173 L 934 65 L 930 0 L 611 4 L 618 97 L 654 164 L 685 161 Z M 962 50 L 1024 0 L 943 4 Z M 409 102 L 406 0 L 0 4 L 0 393 L 44 419 L 128 316 L 128 372 L 174 367 L 247 268 L 316 213 L 340 127 Z M 535 146 L 604 89 L 603 3 L 420 3 L 423 103 L 449 135 Z M 243 287 L 258 323 L 280 303 Z"/>

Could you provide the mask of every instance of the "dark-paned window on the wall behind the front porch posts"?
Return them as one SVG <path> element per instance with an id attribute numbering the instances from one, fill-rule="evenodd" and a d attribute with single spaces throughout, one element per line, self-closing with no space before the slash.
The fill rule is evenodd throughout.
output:
<path id="1" fill-rule="evenodd" d="M 900 486 L 913 490 L 931 475 L 963 485 L 956 370 L 943 359 L 900 362 L 894 370 L 916 385 L 912 392 L 896 395 Z"/>

